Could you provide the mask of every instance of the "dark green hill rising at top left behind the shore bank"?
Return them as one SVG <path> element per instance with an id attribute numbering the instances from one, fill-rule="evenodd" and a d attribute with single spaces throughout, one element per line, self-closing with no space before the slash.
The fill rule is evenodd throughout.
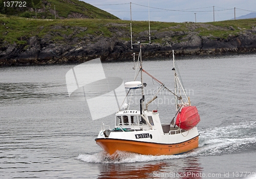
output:
<path id="1" fill-rule="evenodd" d="M 27 18 L 101 18 L 118 17 L 78 0 L 25 0 L 22 4 L 9 4 L 0 0 L 0 13 Z M 8 7 L 9 6 L 9 7 Z M 21 7 L 20 7 L 21 6 Z M 55 12 L 54 12 L 55 7 Z"/>

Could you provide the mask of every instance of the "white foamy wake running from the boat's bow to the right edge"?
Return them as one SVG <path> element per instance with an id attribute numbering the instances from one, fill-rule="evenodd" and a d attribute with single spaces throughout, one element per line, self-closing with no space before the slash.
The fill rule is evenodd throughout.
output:
<path id="1" fill-rule="evenodd" d="M 180 159 L 191 156 L 215 156 L 231 154 L 242 150 L 250 150 L 256 144 L 256 122 L 230 124 L 224 127 L 201 129 L 199 147 L 176 156 L 146 156 L 130 152 L 118 151 L 110 156 L 101 151 L 96 154 L 79 155 L 78 160 L 88 163 L 134 163 L 169 159 Z"/>

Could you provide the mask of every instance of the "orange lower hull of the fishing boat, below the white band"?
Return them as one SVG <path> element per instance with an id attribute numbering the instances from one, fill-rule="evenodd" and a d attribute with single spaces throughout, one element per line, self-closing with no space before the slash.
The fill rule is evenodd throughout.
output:
<path id="1" fill-rule="evenodd" d="M 142 155 L 177 155 L 198 147 L 198 136 L 176 144 L 159 144 L 132 140 L 98 138 L 96 143 L 110 155 L 117 150 L 134 152 Z"/>

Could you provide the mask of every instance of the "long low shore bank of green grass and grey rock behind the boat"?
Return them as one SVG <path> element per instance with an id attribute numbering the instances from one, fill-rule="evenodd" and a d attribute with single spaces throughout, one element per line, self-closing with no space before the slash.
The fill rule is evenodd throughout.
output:
<path id="1" fill-rule="evenodd" d="M 0 66 L 130 59 L 130 21 L 32 19 L 0 14 Z M 148 43 L 148 22 L 133 21 L 133 43 Z M 256 52 L 256 19 L 151 22 L 143 58 Z"/>

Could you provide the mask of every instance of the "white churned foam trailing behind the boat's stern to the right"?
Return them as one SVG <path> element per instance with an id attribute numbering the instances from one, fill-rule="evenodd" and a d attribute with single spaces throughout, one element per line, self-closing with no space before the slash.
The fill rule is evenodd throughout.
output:
<path id="1" fill-rule="evenodd" d="M 243 122 L 201 130 L 199 156 L 229 154 L 245 149 L 243 145 L 256 143 L 256 122 Z"/>

